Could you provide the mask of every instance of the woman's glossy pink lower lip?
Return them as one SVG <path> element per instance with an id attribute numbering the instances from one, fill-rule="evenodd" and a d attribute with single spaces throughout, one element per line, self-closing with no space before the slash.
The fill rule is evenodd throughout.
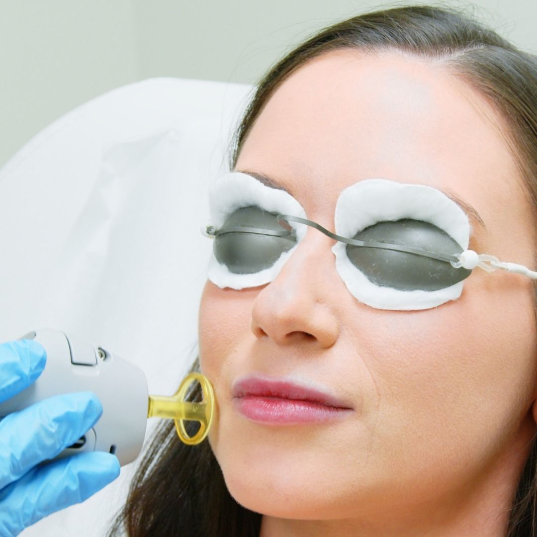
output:
<path id="1" fill-rule="evenodd" d="M 328 422 L 345 417 L 351 409 L 328 407 L 312 401 L 279 397 L 244 396 L 234 399 L 235 408 L 253 422 L 293 425 Z"/>

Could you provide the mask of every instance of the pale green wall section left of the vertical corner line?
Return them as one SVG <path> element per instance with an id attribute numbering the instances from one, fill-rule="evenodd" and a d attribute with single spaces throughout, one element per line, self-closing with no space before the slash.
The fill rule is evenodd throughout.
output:
<path id="1" fill-rule="evenodd" d="M 140 77 L 130 0 L 0 0 L 0 166 L 54 119 Z"/>

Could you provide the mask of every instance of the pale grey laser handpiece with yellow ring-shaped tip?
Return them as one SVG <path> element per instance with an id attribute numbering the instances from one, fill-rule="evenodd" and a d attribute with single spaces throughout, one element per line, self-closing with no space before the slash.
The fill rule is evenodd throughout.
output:
<path id="1" fill-rule="evenodd" d="M 103 414 L 74 445 L 56 459 L 86 451 L 114 453 L 120 465 L 140 454 L 147 418 L 175 420 L 179 438 L 189 445 L 205 439 L 215 412 L 211 383 L 201 373 L 190 373 L 171 397 L 148 394 L 143 371 L 127 360 L 74 335 L 48 328 L 30 332 L 20 339 L 35 339 L 47 352 L 47 364 L 28 388 L 0 404 L 0 417 L 22 410 L 53 395 L 92 391 L 103 405 Z M 201 402 L 186 401 L 194 382 L 199 382 Z M 185 421 L 200 424 L 189 436 Z"/>

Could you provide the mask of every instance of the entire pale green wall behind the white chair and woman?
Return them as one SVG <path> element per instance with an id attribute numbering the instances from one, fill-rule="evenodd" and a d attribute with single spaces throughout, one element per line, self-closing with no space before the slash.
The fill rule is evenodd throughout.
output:
<path id="1" fill-rule="evenodd" d="M 252 83 L 317 28 L 425 2 L 0 0 L 0 166 L 51 121 L 112 88 L 153 76 Z M 473 5 L 499 33 L 537 53 L 536 0 Z"/>

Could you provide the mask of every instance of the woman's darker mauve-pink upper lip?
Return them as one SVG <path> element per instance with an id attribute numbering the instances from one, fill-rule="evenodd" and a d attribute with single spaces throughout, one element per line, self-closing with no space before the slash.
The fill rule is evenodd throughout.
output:
<path id="1" fill-rule="evenodd" d="M 317 388 L 287 379 L 267 379 L 259 375 L 249 375 L 233 383 L 233 397 L 245 396 L 278 397 L 298 401 L 310 401 L 326 407 L 352 408 L 346 401 Z"/>

